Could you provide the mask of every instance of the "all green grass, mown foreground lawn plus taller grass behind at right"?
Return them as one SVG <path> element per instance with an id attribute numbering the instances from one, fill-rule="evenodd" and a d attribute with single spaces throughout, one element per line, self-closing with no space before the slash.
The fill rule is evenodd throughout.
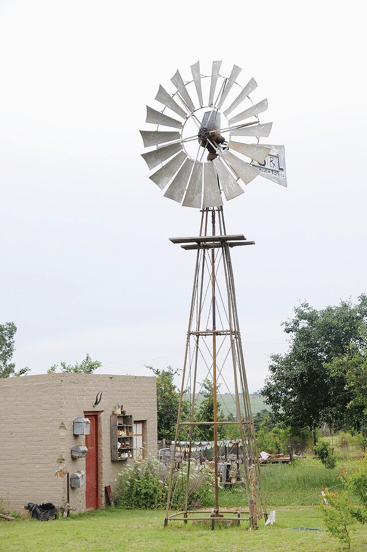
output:
<path id="1" fill-rule="evenodd" d="M 355 461 L 345 462 L 352 468 Z M 191 549 L 210 552 L 251 550 L 253 552 L 334 552 L 338 543 L 324 530 L 322 512 L 312 505 L 320 504 L 322 486 L 338 485 L 335 470 L 324 468 L 318 461 L 306 459 L 295 465 L 262 466 L 268 511 L 276 510 L 273 527 L 248 532 L 247 522 L 240 528 L 217 527 L 211 531 L 201 524 L 186 526 L 171 522 L 163 528 L 164 512 L 106 508 L 103 511 L 71 516 L 50 522 L 33 519 L 0 521 L 0 552 L 77 550 L 135 550 L 180 552 Z M 222 506 L 243 506 L 246 491 L 221 491 Z M 290 530 L 291 527 L 313 527 L 322 531 Z M 357 524 L 352 532 L 352 551 L 367 552 L 367 527 Z"/>

